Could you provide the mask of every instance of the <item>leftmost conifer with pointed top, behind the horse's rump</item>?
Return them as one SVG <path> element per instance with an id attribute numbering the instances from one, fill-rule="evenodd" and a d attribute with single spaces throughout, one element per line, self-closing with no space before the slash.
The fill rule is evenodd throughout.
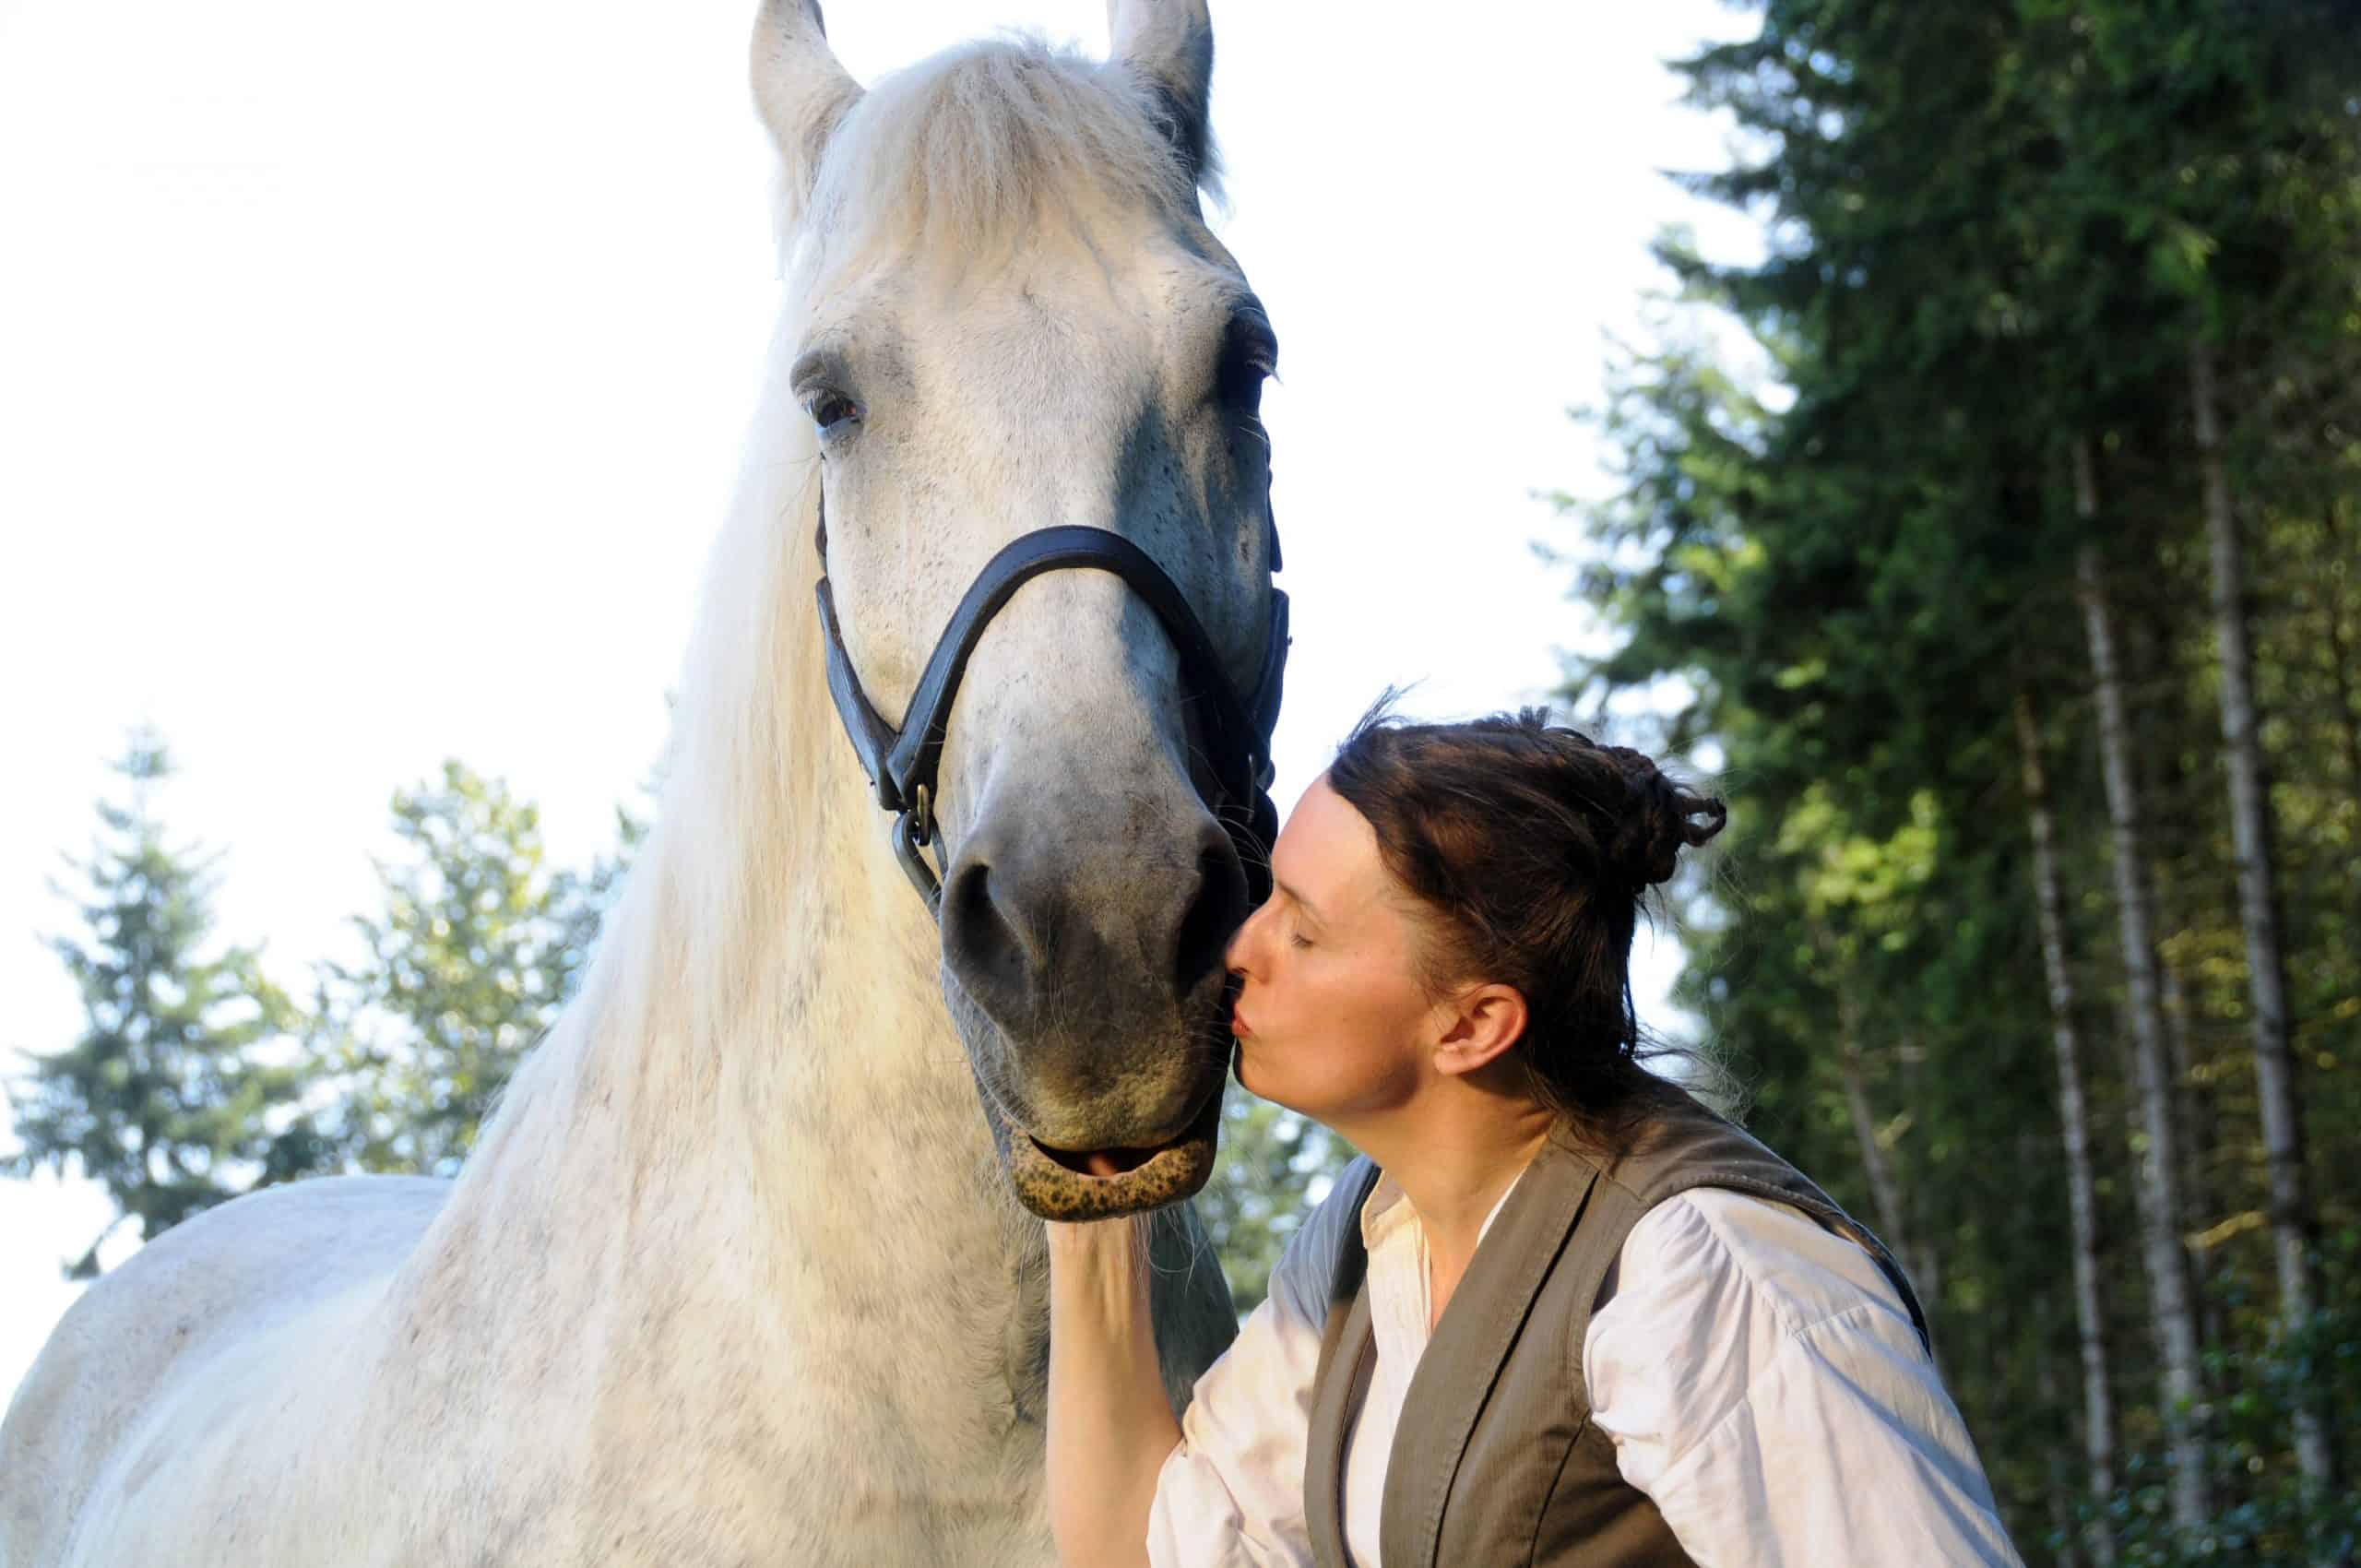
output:
<path id="1" fill-rule="evenodd" d="M 142 1240 L 198 1209 L 312 1164 L 293 1063 L 295 1008 L 260 949 L 208 956 L 212 862 L 175 845 L 156 815 L 172 760 L 135 732 L 113 763 L 127 798 L 99 803 L 99 838 L 73 897 L 83 933 L 50 947 L 83 992 L 85 1032 L 9 1084 L 21 1148 L 0 1171 L 78 1171 L 106 1188 Z M 102 1233 L 68 1266 L 97 1273 Z"/>

